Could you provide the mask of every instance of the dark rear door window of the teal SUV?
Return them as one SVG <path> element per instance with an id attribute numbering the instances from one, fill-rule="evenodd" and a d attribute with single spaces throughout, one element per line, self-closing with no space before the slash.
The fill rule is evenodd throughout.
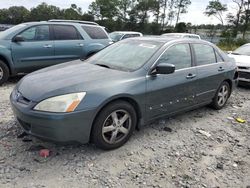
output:
<path id="1" fill-rule="evenodd" d="M 71 25 L 54 25 L 55 40 L 80 40 L 80 33 Z"/>

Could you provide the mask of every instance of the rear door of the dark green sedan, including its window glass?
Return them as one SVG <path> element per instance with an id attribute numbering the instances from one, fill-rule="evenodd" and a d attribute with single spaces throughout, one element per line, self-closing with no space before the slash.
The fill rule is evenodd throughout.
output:
<path id="1" fill-rule="evenodd" d="M 192 48 L 195 54 L 199 85 L 196 101 L 202 103 L 214 97 L 219 85 L 225 79 L 226 63 L 208 44 L 192 44 Z"/>

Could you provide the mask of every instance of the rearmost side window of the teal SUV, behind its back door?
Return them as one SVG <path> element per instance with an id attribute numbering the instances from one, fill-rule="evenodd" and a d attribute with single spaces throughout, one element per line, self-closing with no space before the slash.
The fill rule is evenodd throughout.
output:
<path id="1" fill-rule="evenodd" d="M 82 28 L 92 39 L 108 39 L 101 27 L 82 25 Z"/>

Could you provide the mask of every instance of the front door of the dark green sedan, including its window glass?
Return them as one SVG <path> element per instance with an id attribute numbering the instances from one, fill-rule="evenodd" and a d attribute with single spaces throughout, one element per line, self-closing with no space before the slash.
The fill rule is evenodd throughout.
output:
<path id="1" fill-rule="evenodd" d="M 168 75 L 147 77 L 147 119 L 178 112 L 195 104 L 197 70 L 192 67 L 189 44 L 176 44 L 160 57 L 157 63 L 175 65 Z"/>

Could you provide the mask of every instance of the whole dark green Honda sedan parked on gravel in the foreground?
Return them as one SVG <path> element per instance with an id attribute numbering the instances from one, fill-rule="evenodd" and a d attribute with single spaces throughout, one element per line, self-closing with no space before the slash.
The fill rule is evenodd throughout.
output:
<path id="1" fill-rule="evenodd" d="M 142 37 L 29 74 L 10 100 L 30 135 L 115 149 L 157 118 L 208 104 L 221 109 L 236 75 L 235 63 L 211 43 Z"/>

